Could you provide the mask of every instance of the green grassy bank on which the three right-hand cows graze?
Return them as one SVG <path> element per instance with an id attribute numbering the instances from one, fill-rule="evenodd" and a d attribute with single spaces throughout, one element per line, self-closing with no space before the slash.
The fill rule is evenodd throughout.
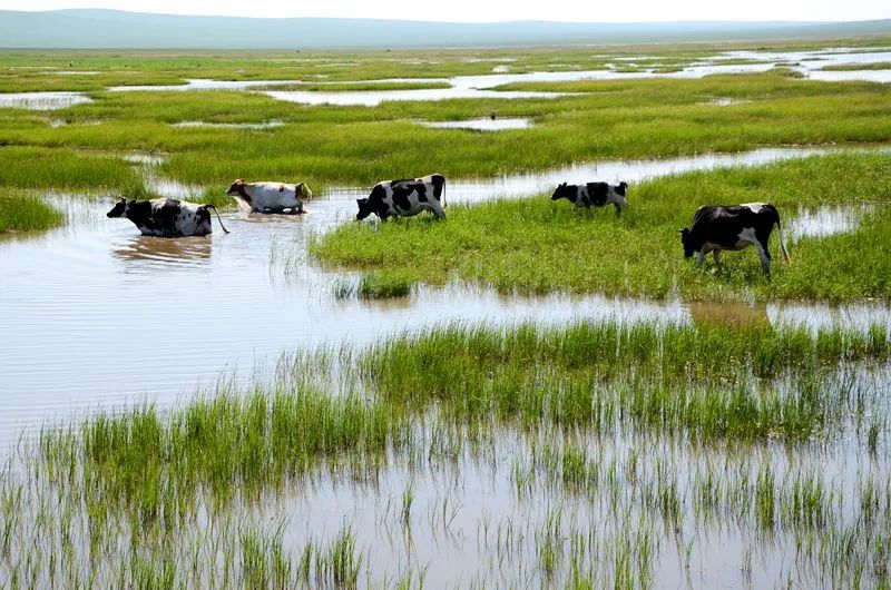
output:
<path id="1" fill-rule="evenodd" d="M 891 296 L 891 232 L 885 209 L 891 155 L 843 154 L 757 168 L 689 173 L 631 186 L 630 207 L 575 210 L 547 195 L 518 201 L 451 207 L 447 223 L 419 217 L 386 224 L 344 224 L 312 245 L 329 265 L 400 273 L 443 284 L 451 278 L 500 292 L 606 293 L 694 299 L 814 298 L 854 301 Z M 792 262 L 772 238 L 773 277 L 762 275 L 754 249 L 725 253 L 724 272 L 684 259 L 678 229 L 706 204 L 770 201 L 789 220 L 800 207 L 870 203 L 851 233 L 803 238 Z M 414 253 L 394 257 L 395 244 Z M 843 273 L 839 269 L 844 268 Z"/>

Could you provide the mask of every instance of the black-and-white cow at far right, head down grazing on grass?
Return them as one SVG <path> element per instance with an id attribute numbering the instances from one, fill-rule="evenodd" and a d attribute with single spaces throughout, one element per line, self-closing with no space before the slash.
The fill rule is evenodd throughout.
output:
<path id="1" fill-rule="evenodd" d="M 773 205 L 747 203 L 733 207 L 714 205 L 699 207 L 693 216 L 691 227 L 681 230 L 684 257 L 689 258 L 695 253 L 697 262 L 703 264 L 705 255 L 711 252 L 721 271 L 721 250 L 740 250 L 755 246 L 761 258 L 761 268 L 765 274 L 770 274 L 771 252 L 767 249 L 767 240 L 771 238 L 773 226 L 777 228 L 783 258 L 789 262 L 780 213 Z"/>

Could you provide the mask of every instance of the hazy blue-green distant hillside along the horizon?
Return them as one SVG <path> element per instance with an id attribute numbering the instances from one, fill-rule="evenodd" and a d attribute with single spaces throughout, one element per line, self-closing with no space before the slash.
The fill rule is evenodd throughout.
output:
<path id="1" fill-rule="evenodd" d="M 457 23 L 371 19 L 248 19 L 117 10 L 0 11 L 0 47 L 311 49 L 637 43 L 891 35 L 862 22 Z"/>

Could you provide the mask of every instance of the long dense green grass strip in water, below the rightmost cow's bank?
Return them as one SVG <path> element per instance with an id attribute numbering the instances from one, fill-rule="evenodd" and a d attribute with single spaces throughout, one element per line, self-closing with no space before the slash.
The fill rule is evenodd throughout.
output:
<path id="1" fill-rule="evenodd" d="M 630 422 L 706 439 L 802 440 L 842 420 L 855 393 L 831 384 L 822 368 L 889 353 L 891 341 L 880 327 L 813 336 L 761 326 L 582 323 L 393 337 L 374 347 L 362 368 L 389 403 L 435 404 L 461 423 L 495 416 L 526 427 L 547 422 L 609 432 L 616 422 Z M 796 376 L 785 392 L 760 381 L 789 371 Z"/>

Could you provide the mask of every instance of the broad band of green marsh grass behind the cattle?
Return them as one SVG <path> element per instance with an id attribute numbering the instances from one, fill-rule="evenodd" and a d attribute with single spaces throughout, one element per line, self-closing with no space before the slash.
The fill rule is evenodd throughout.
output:
<path id="1" fill-rule="evenodd" d="M 526 85 L 525 87 L 529 87 Z M 0 112 L 0 142 L 67 149 L 170 154 L 164 173 L 200 184 L 301 176 L 315 186 L 365 186 L 432 170 L 490 176 L 578 160 L 737 151 L 784 144 L 891 140 L 884 85 L 803 81 L 781 71 L 703 80 L 625 80 L 545 85 L 580 96 L 560 99 L 448 100 L 379 107 L 305 107 L 260 94 L 98 92 L 90 105 Z M 751 102 L 703 105 L 724 96 Z M 427 129 L 413 120 L 466 119 L 492 108 L 530 117 L 531 129 L 487 134 Z M 72 125 L 50 128 L 53 118 Z M 169 129 L 184 120 L 263 122 L 280 128 Z M 78 121 L 101 120 L 101 125 Z"/>

